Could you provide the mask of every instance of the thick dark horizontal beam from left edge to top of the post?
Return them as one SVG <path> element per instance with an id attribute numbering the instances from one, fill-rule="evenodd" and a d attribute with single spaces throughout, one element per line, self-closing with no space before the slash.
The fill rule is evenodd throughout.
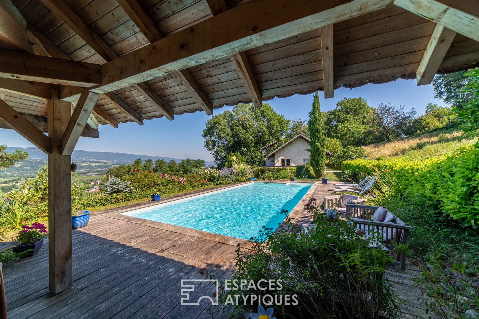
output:
<path id="1" fill-rule="evenodd" d="M 102 66 L 0 50 L 0 77 L 81 87 L 101 83 Z"/>

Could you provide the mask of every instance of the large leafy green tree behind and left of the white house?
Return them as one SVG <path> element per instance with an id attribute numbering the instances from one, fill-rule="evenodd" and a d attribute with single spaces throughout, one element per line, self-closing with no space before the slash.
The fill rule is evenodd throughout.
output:
<path id="1" fill-rule="evenodd" d="M 238 104 L 233 110 L 206 121 L 205 148 L 220 168 L 225 167 L 226 156 L 234 152 L 239 152 L 250 165 L 261 165 L 264 159 L 260 148 L 281 141 L 288 131 L 288 123 L 268 103 L 263 103 L 261 108 Z"/>

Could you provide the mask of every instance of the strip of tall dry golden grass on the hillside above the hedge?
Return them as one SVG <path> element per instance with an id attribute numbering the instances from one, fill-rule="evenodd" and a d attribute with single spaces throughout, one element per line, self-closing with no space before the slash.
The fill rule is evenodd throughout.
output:
<path id="1" fill-rule="evenodd" d="M 393 157 L 410 153 L 413 150 L 423 150 L 439 152 L 440 149 L 453 150 L 462 145 L 470 145 L 477 141 L 468 139 L 462 135 L 462 132 L 456 129 L 442 130 L 430 133 L 424 133 L 417 136 L 411 136 L 402 140 L 393 142 L 382 142 L 363 146 L 365 153 L 370 159 L 380 159 Z M 434 144 L 439 144 L 434 146 Z M 443 152 L 443 153 L 445 153 Z M 417 155 L 411 153 L 411 155 Z"/>

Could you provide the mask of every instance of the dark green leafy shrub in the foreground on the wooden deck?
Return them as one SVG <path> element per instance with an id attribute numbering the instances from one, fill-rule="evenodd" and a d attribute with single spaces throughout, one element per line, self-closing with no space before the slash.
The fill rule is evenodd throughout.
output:
<path id="1" fill-rule="evenodd" d="M 231 297 L 234 300 L 235 294 L 246 296 L 239 300 L 248 301 L 251 296 L 262 299 L 271 295 L 279 299 L 280 296 L 296 295 L 297 305 L 272 301 L 277 318 L 372 319 L 380 314 L 395 318 L 399 313 L 399 298 L 383 276 L 391 257 L 380 249 L 368 247 L 368 240 L 357 232 L 354 223 L 337 219 L 335 227 L 331 227 L 330 221 L 320 214 L 314 198 L 307 208 L 314 216 L 308 232 L 294 227 L 291 222 L 277 231 L 263 228 L 257 237 L 251 238 L 254 241 L 251 250 L 242 250 L 240 246 L 237 250 L 237 272 L 232 280 L 259 283 L 276 279 L 281 280 L 282 287 L 220 289 L 220 304 Z M 215 274 L 207 274 L 207 277 L 215 277 Z M 223 286 L 221 283 L 220 287 Z M 256 305 L 246 302 L 227 306 L 223 311 L 238 313 L 242 307 L 254 309 Z"/>

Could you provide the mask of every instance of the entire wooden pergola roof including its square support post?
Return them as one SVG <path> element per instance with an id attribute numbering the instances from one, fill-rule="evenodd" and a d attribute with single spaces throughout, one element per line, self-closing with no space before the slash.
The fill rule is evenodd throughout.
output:
<path id="1" fill-rule="evenodd" d="M 428 84 L 476 65 L 478 41 L 478 0 L 0 0 L 0 128 L 48 154 L 50 291 L 73 282 L 80 135 L 318 89 Z"/>

